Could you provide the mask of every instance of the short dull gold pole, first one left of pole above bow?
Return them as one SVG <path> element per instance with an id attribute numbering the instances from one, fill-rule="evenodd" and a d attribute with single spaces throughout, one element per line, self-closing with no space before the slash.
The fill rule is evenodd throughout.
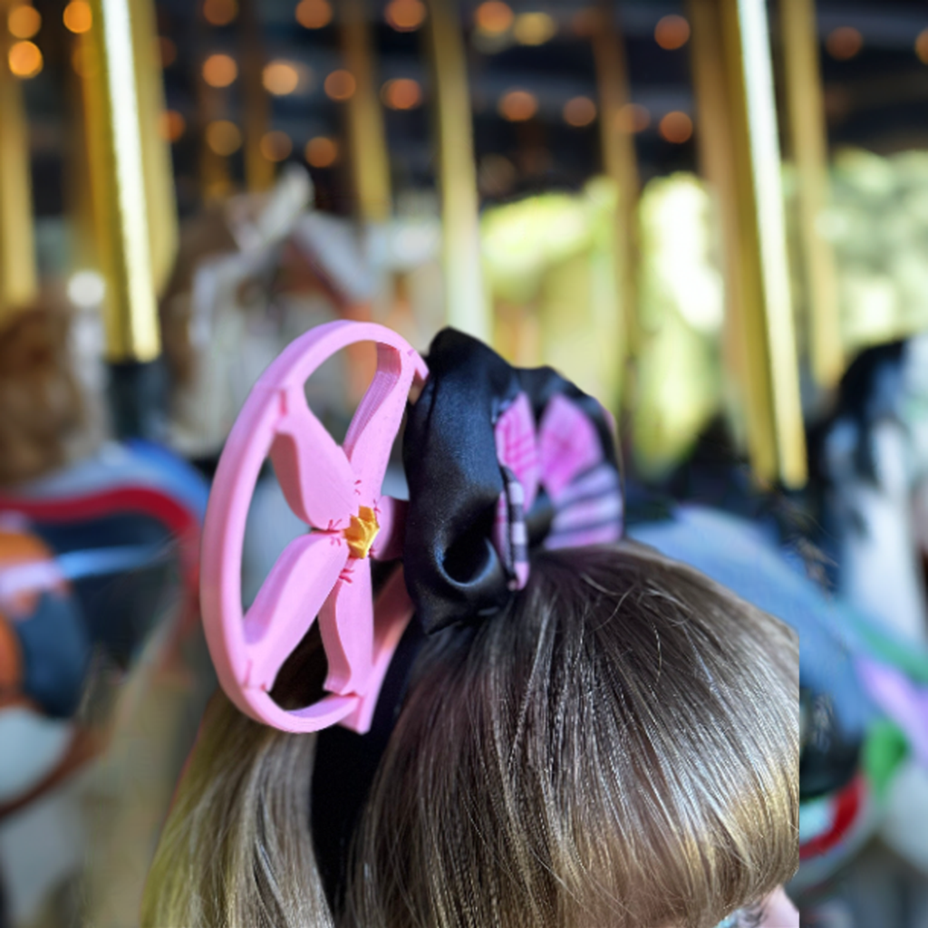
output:
<path id="1" fill-rule="evenodd" d="M 348 100 L 348 139 L 358 213 L 385 222 L 391 213 L 390 161 L 383 110 L 377 94 L 365 0 L 342 0 L 342 48 L 355 90 Z"/>

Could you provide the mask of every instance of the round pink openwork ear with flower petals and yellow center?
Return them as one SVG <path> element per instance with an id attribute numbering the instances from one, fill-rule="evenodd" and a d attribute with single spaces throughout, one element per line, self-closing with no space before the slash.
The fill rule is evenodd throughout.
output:
<path id="1" fill-rule="evenodd" d="M 375 342 L 377 370 L 337 445 L 303 385 L 329 356 Z M 219 460 L 203 529 L 200 599 L 213 664 L 226 695 L 259 722 L 307 732 L 370 727 L 383 677 L 412 615 L 401 570 L 373 602 L 368 557 L 403 548 L 405 504 L 382 496 L 383 476 L 413 382 L 425 362 L 390 329 L 330 322 L 292 342 L 255 384 Z M 291 542 L 248 612 L 241 555 L 251 495 L 270 457 L 292 509 L 312 531 Z M 329 659 L 328 695 L 288 711 L 270 696 L 277 673 L 318 616 Z"/>

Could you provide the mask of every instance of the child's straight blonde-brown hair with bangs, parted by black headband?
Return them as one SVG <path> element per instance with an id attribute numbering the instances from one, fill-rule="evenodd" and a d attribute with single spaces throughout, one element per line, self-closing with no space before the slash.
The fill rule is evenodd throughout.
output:
<path id="1" fill-rule="evenodd" d="M 546 553 L 509 612 L 429 639 L 334 913 L 314 749 L 217 698 L 145 926 L 704 928 L 798 864 L 793 634 L 630 542 Z"/>

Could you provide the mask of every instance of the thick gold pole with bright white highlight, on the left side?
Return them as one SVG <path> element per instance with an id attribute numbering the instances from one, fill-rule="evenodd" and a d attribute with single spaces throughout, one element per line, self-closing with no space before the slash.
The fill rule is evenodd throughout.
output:
<path id="1" fill-rule="evenodd" d="M 110 361 L 161 353 L 129 0 L 91 0 L 84 93 Z M 149 38 L 150 41 L 150 38 Z"/>

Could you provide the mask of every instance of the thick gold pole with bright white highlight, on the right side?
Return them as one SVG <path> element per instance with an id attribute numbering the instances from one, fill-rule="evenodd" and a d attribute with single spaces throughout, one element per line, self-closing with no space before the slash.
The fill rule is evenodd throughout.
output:
<path id="1" fill-rule="evenodd" d="M 741 342 L 748 447 L 758 479 L 797 487 L 806 482 L 806 440 L 766 6 L 690 0 L 690 19 L 701 132 L 712 131 L 714 108 L 727 126 L 710 179 L 728 215 L 728 308 Z"/>

